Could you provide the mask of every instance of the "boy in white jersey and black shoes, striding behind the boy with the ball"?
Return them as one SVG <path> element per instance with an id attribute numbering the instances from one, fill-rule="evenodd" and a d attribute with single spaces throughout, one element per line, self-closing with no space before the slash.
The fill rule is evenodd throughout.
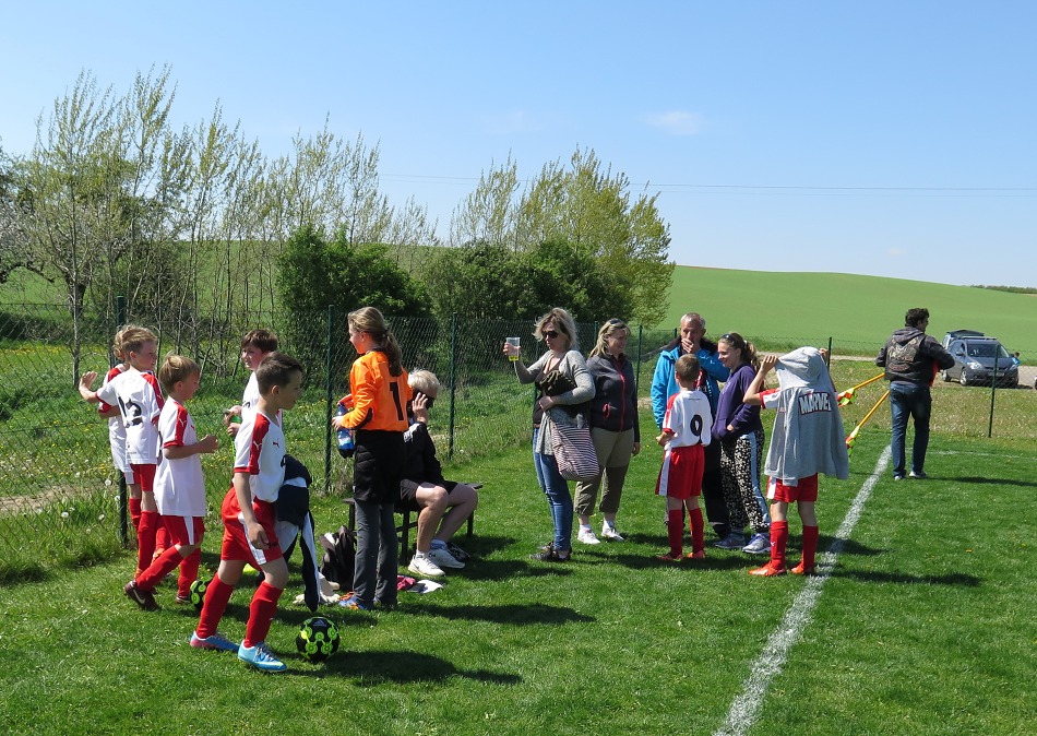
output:
<path id="1" fill-rule="evenodd" d="M 214 435 L 201 440 L 187 402 L 198 392 L 202 370 L 191 358 L 167 355 L 158 369 L 158 381 L 167 401 L 158 416 L 162 454 L 155 472 L 155 503 L 170 544 L 126 586 L 127 596 L 144 610 L 155 610 L 155 587 L 175 567 L 180 566 L 177 602 L 191 600 L 191 583 L 198 578 L 205 534 L 205 479 L 202 475 L 204 452 L 215 452 L 219 441 Z"/>

